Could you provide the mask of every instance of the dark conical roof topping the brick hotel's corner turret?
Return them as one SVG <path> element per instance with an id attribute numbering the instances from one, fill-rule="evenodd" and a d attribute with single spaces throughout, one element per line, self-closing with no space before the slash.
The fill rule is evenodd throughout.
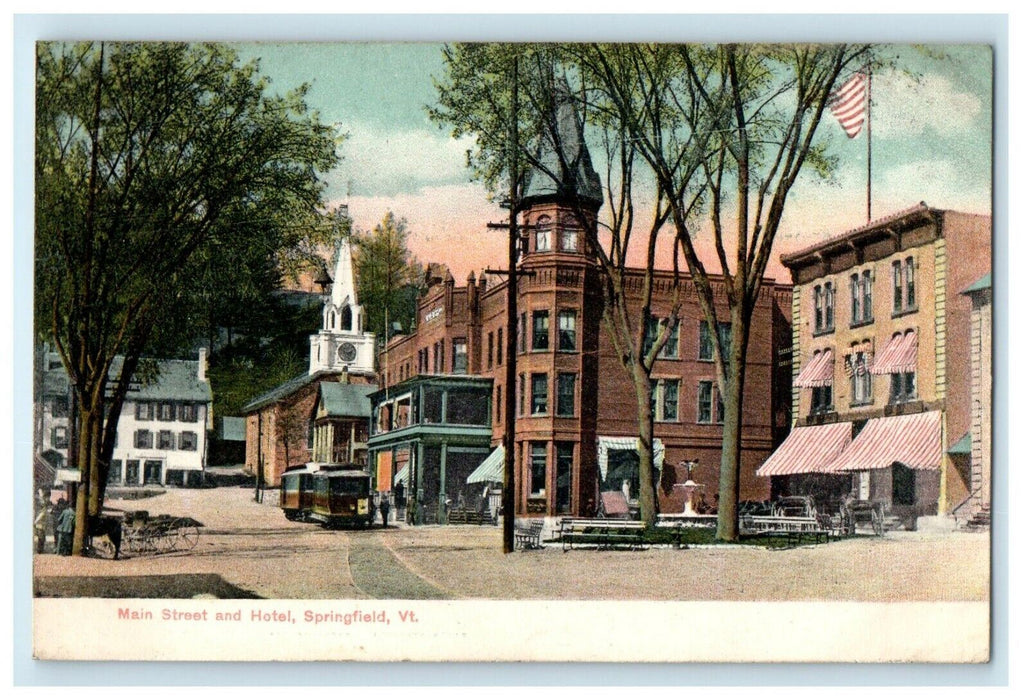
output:
<path id="1" fill-rule="evenodd" d="M 555 81 L 549 133 L 541 139 L 539 165 L 526 178 L 520 209 L 542 202 L 588 202 L 600 206 L 604 192 L 586 145 L 582 121 L 568 81 Z"/>

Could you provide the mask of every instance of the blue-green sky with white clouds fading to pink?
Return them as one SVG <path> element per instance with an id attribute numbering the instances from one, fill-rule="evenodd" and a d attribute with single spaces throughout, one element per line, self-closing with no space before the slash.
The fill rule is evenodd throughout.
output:
<path id="1" fill-rule="evenodd" d="M 340 166 L 326 175 L 326 198 L 333 206 L 348 204 L 359 230 L 370 230 L 392 210 L 407 220 L 419 260 L 445 262 L 459 280 L 503 261 L 506 234 L 486 223 L 502 221 L 506 213 L 471 180 L 465 153 L 473 143 L 451 138 L 427 115 L 427 105 L 436 100 L 433 78 L 443 76 L 441 45 L 237 47 L 245 60 L 259 59 L 274 91 L 309 83 L 311 108 L 348 135 Z M 895 69 L 873 79 L 873 218 L 919 202 L 989 213 L 989 47 L 889 48 L 898 57 Z M 769 267 L 781 280 L 788 277 L 779 254 L 865 222 L 865 134 L 848 139 L 830 115 L 820 134 L 840 165 L 828 181 L 810 175 L 794 186 Z M 596 153 L 594 160 L 600 171 Z"/>

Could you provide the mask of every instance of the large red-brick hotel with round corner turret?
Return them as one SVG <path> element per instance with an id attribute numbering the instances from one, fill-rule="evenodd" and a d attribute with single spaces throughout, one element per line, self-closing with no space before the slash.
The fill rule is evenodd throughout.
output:
<path id="1" fill-rule="evenodd" d="M 566 175 L 558 184 L 534 173 L 516 212 L 528 232 L 518 282 L 517 516 L 592 516 L 601 491 L 628 488 L 631 498 L 638 491 L 635 390 L 602 329 L 601 273 L 586 252 L 587 232 L 576 216 L 579 208 L 596 215 L 600 179 L 573 111 L 559 111 L 558 126 L 566 149 L 561 164 L 556 153 L 544 152 L 541 160 L 551 163 L 551 172 Z M 439 266 L 430 267 L 427 278 L 412 334 L 392 339 L 380 355 L 381 383 L 399 389 L 424 375 L 493 380 L 489 420 L 497 446 L 506 391 L 506 282 L 491 284 L 485 274 L 477 279 L 469 274 L 458 286 Z M 630 294 L 642 297 L 643 278 L 642 270 L 629 272 Z M 683 509 L 684 491 L 676 484 L 687 475 L 680 462 L 696 461 L 693 479 L 705 484 L 709 495 L 717 491 L 722 432 L 713 361 L 718 339 L 702 321 L 688 278 L 680 276 L 680 282 L 685 288 L 678 329 L 652 373 L 655 461 L 663 465 L 659 506 L 666 512 Z M 655 275 L 655 314 L 668 313 L 672 283 L 673 273 Z M 716 278 L 713 285 L 717 290 L 721 281 Z M 724 294 L 717 297 L 718 315 L 728 318 Z M 742 433 L 744 499 L 768 496 L 769 480 L 755 471 L 789 425 L 790 363 L 780 362 L 774 350 L 777 343 L 789 347 L 789 287 L 769 280 L 753 313 Z M 372 439 L 379 441 L 388 436 Z M 411 457 L 403 452 L 392 461 Z M 413 493 L 410 484 L 405 488 Z"/>

